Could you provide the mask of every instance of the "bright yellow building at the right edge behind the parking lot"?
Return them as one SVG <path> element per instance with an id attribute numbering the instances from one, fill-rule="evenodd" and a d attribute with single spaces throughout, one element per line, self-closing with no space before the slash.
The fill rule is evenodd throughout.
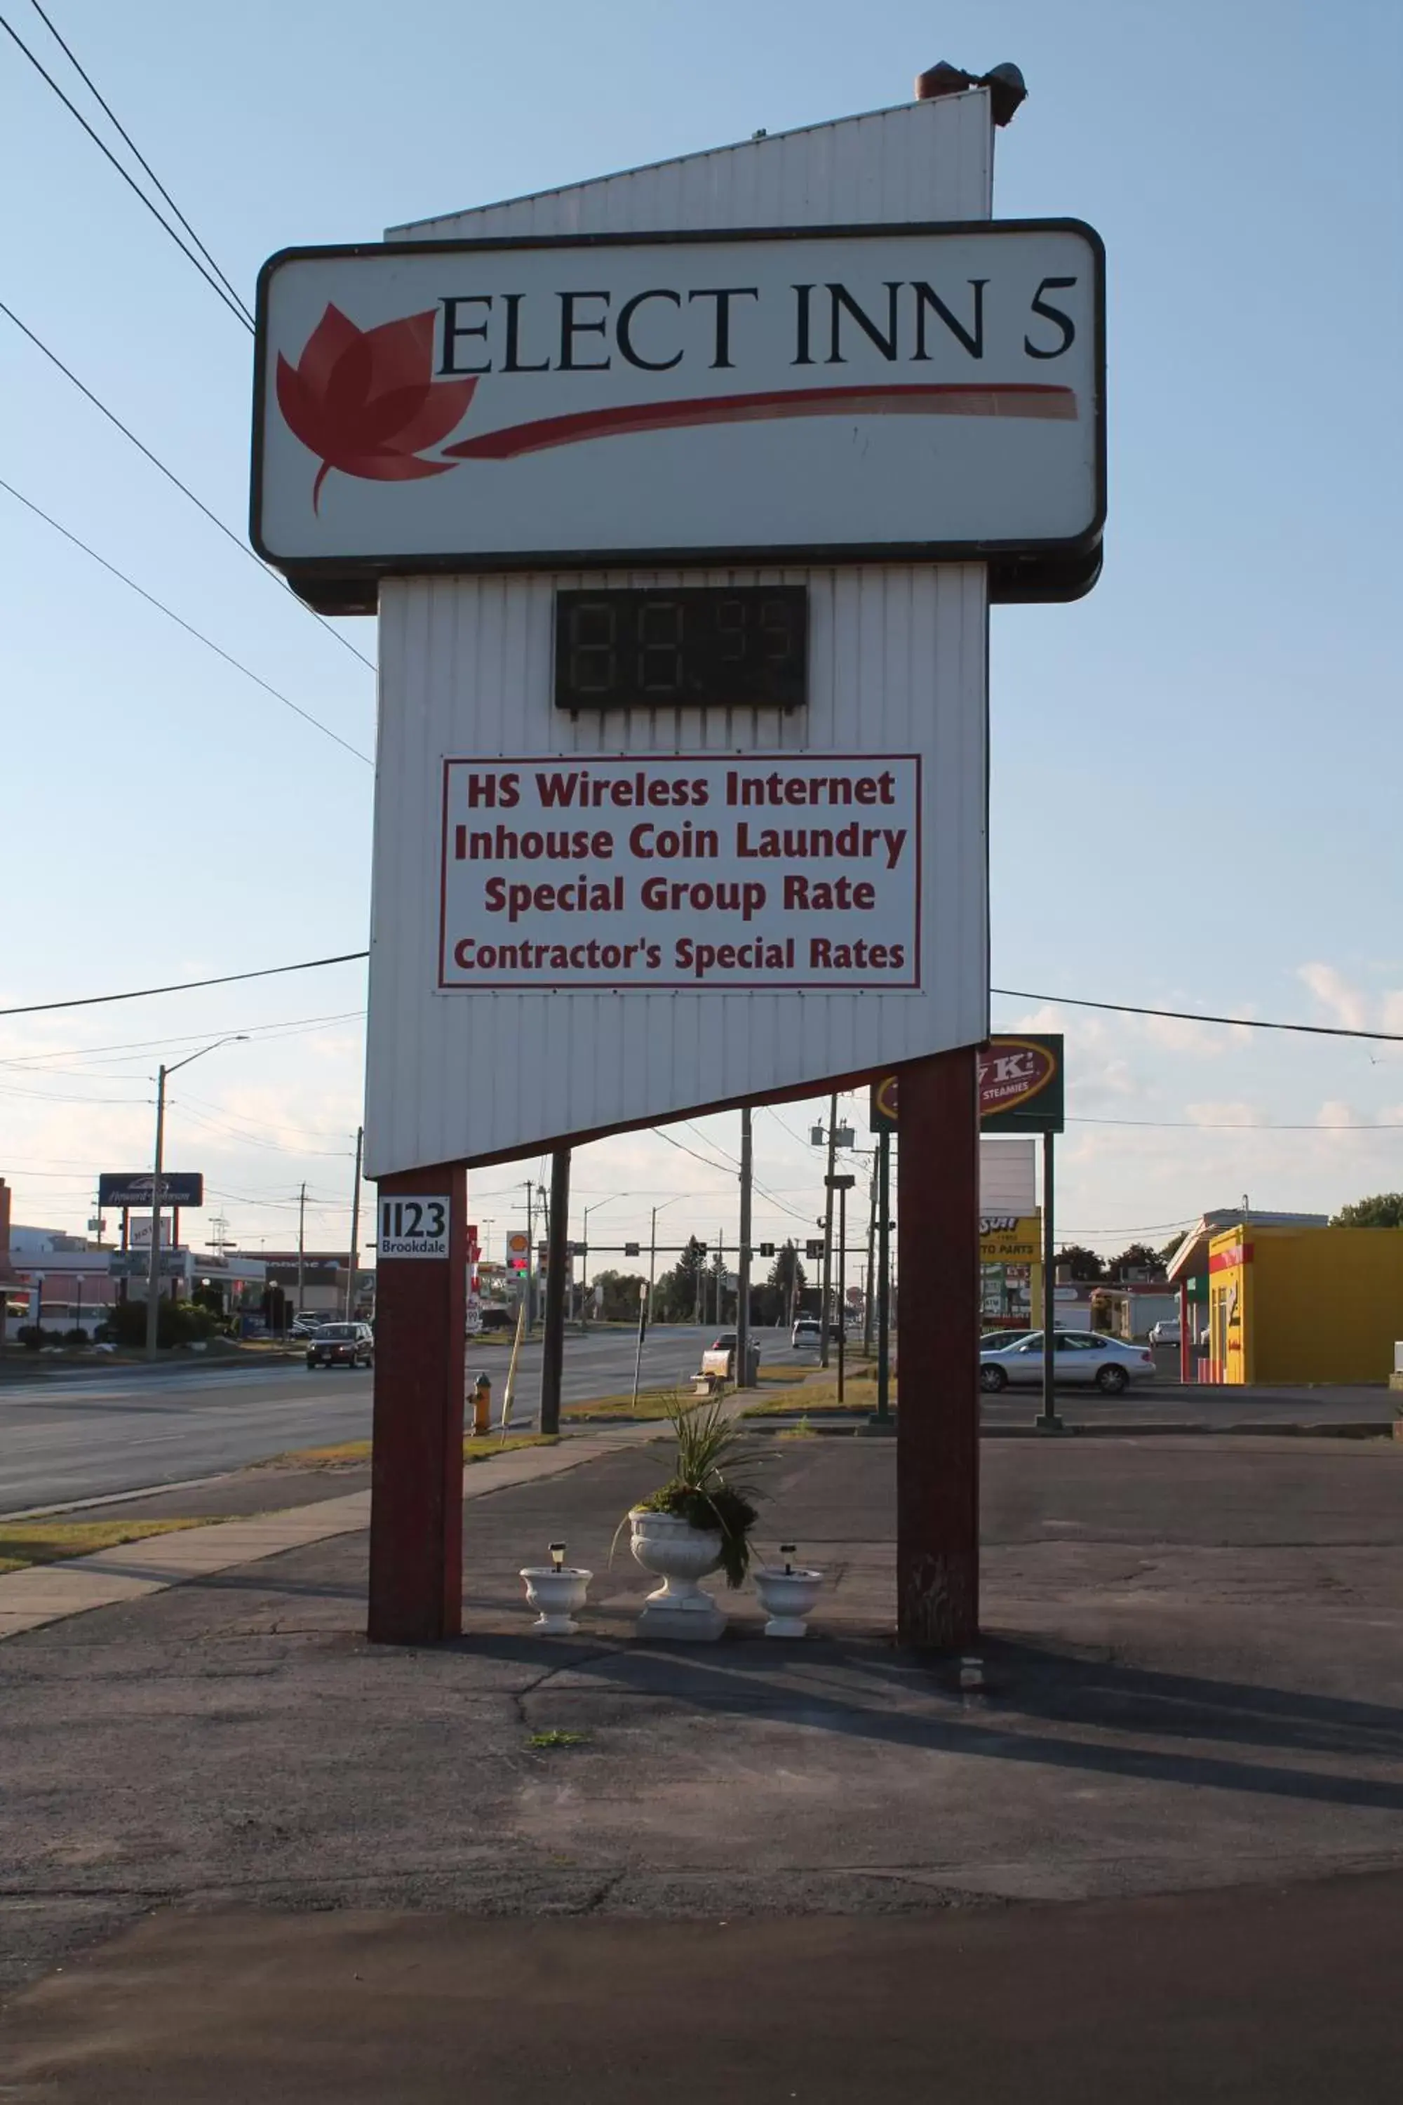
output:
<path id="1" fill-rule="evenodd" d="M 1209 1242 L 1209 1381 L 1388 1381 L 1403 1229 L 1239 1221 Z"/>

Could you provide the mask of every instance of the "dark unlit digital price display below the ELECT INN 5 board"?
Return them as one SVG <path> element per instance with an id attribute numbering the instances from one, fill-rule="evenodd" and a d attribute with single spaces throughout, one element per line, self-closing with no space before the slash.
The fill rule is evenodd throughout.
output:
<path id="1" fill-rule="evenodd" d="M 555 594 L 557 709 L 801 709 L 808 585 Z"/>

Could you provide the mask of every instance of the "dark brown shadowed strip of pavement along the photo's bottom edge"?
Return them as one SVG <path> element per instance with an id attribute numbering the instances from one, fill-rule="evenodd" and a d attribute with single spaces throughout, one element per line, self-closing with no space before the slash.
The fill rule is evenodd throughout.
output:
<path id="1" fill-rule="evenodd" d="M 1403 1880 L 894 1918 L 154 1916 L 8 2012 L 46 2105 L 1392 2105 Z"/>

